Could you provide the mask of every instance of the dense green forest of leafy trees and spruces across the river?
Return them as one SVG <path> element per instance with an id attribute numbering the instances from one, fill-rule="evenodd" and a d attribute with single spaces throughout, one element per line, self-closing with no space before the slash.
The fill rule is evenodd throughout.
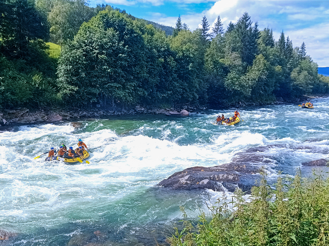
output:
<path id="1" fill-rule="evenodd" d="M 259 30 L 174 28 L 85 0 L 0 2 L 0 108 L 270 103 L 328 93 L 303 42 Z M 201 21 L 201 20 L 200 20 Z M 281 99 L 281 100 L 282 100 Z"/>

